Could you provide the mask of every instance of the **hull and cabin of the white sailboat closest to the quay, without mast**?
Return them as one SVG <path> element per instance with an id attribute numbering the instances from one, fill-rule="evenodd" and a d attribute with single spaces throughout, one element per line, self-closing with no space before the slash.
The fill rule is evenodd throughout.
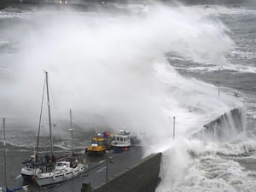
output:
<path id="1" fill-rule="evenodd" d="M 87 165 L 79 163 L 73 157 L 69 160 L 62 159 L 56 162 L 55 169 L 49 172 L 41 172 L 35 177 L 36 183 L 39 186 L 45 186 L 50 184 L 62 183 L 77 177 L 80 173 L 84 172 L 88 168 Z"/>

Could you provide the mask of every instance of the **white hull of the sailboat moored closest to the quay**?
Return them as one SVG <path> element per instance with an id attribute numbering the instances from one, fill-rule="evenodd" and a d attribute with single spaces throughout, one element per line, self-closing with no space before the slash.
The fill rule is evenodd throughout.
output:
<path id="1" fill-rule="evenodd" d="M 35 180 L 39 186 L 62 183 L 73 177 L 77 177 L 80 173 L 84 172 L 86 168 L 87 168 L 86 165 L 79 164 L 75 168 L 55 170 L 53 172 L 44 172 L 39 174 Z"/>

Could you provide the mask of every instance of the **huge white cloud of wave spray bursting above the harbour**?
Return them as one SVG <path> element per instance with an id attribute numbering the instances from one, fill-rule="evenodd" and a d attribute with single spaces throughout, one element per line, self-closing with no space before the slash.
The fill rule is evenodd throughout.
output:
<path id="1" fill-rule="evenodd" d="M 224 55 L 233 43 L 218 21 L 161 6 L 137 15 L 30 15 L 30 20 L 36 27 L 27 26 L 19 36 L 23 44 L 11 74 L 15 82 L 5 97 L 12 114 L 26 111 L 27 119 L 37 119 L 43 70 L 49 72 L 57 118 L 66 119 L 73 108 L 80 118 L 95 113 L 110 126 L 148 131 L 169 127 L 168 116 L 201 119 L 234 105 L 218 102 L 212 85 L 181 77 L 165 57 L 172 52 L 226 64 Z M 19 29 L 12 28 L 18 36 Z"/>

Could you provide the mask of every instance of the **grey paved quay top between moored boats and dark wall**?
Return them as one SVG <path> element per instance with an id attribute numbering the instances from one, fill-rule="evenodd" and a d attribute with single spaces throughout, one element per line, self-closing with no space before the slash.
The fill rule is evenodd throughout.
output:
<path id="1" fill-rule="evenodd" d="M 96 189 L 106 183 L 107 179 L 111 180 L 126 169 L 137 165 L 140 160 L 143 160 L 142 147 L 131 147 L 127 151 L 119 154 L 114 154 L 111 151 L 108 154 L 108 177 L 107 177 L 107 155 L 96 164 L 89 165 L 87 171 L 79 177 L 75 177 L 66 183 L 55 185 L 52 189 L 40 189 L 41 191 L 54 192 L 80 192 L 83 183 L 90 183 L 91 189 Z"/>

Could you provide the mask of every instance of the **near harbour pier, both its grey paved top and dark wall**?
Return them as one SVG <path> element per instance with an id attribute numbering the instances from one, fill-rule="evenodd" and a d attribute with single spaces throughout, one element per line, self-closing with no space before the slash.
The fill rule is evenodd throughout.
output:
<path id="1" fill-rule="evenodd" d="M 143 148 L 132 146 L 119 154 L 111 151 L 101 163 L 79 177 L 61 183 L 52 192 L 154 192 L 160 181 L 161 154 L 143 158 Z M 39 190 L 40 191 L 40 190 Z"/>

